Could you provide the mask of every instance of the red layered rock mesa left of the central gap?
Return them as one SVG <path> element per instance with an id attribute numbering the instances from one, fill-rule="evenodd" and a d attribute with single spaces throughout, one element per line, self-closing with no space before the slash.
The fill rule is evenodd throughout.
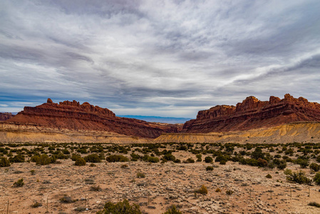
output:
<path id="1" fill-rule="evenodd" d="M 120 118 L 108 108 L 100 108 L 90 103 L 63 101 L 58 104 L 53 103 L 50 98 L 47 103 L 40 106 L 24 107 L 24 111 L 5 123 L 33 124 L 70 130 L 109 131 L 144 138 L 156 138 L 166 132 L 176 133 L 179 129 L 175 125 L 165 126 L 133 118 Z"/>

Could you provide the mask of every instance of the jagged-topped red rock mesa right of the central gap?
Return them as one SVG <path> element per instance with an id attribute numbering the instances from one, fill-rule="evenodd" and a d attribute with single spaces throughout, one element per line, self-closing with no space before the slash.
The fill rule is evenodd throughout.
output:
<path id="1" fill-rule="evenodd" d="M 283 99 L 271 96 L 269 101 L 247 97 L 237 106 L 215 106 L 199 111 L 195 120 L 187 121 L 183 131 L 210 133 L 272 127 L 296 121 L 320 121 L 320 104 L 286 94 Z"/>

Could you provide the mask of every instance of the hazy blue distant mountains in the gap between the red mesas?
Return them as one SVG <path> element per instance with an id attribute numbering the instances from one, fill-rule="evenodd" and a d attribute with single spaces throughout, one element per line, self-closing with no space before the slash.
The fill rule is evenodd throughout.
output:
<path id="1" fill-rule="evenodd" d="M 186 121 L 190 121 L 192 118 L 173 118 L 173 117 L 158 117 L 158 116 L 135 116 L 135 115 L 119 115 L 119 117 L 123 118 L 135 118 L 138 120 L 143 120 L 147 122 L 155 122 L 155 123 L 185 123 Z"/>

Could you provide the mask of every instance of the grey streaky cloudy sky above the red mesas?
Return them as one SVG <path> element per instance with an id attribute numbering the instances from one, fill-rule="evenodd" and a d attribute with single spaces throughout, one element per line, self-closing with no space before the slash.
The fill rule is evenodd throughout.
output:
<path id="1" fill-rule="evenodd" d="M 319 11 L 319 0 L 1 0 L 0 111 L 51 98 L 195 118 L 247 96 L 320 103 Z"/>

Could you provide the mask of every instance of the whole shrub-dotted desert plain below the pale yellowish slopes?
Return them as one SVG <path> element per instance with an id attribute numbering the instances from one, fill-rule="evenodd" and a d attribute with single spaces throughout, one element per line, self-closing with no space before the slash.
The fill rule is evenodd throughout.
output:
<path id="1" fill-rule="evenodd" d="M 285 170 L 303 171 L 312 178 L 315 172 L 309 167 L 302 168 L 294 161 L 287 161 L 285 169 L 235 160 L 215 162 L 219 154 L 231 158 L 242 153 L 250 158 L 259 147 L 274 159 L 294 160 L 307 153 L 309 163 L 317 163 L 314 153 L 318 153 L 319 143 L 2 143 L 1 147 L 9 156 L 24 156 L 25 162 L 0 168 L 0 213 L 7 213 L 8 208 L 8 213 L 96 213 L 108 201 L 124 199 L 140 205 L 143 213 L 164 213 L 171 205 L 182 213 L 320 212 L 309 205 L 320 203 L 320 186 L 294 183 L 284 174 Z M 61 154 L 61 159 L 37 165 L 32 162 L 33 152 Z M 168 153 L 166 157 L 174 156 L 180 163 L 163 160 Z M 96 154 L 101 161 L 75 165 L 71 154 L 83 158 Z M 128 162 L 105 161 L 113 155 L 125 156 Z M 206 157 L 212 162 L 205 161 Z M 24 185 L 14 187 L 21 178 Z M 207 194 L 198 193 L 202 185 Z"/>

